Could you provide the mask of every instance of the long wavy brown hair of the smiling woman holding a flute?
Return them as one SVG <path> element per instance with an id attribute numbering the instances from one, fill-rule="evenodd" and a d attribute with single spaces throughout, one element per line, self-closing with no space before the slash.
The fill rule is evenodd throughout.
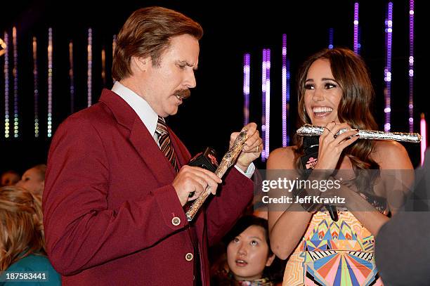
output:
<path id="1" fill-rule="evenodd" d="M 309 67 L 318 59 L 330 61 L 333 77 L 341 87 L 343 94 L 337 108 L 339 121 L 348 123 L 354 129 L 376 130 L 377 124 L 371 112 L 374 89 L 369 72 L 363 59 L 347 48 L 324 49 L 308 58 L 302 65 L 298 77 L 298 125 L 311 124 L 304 104 L 305 82 Z M 303 138 L 296 134 L 294 143 L 297 145 L 296 166 L 299 166 L 299 157 L 303 155 Z M 348 146 L 342 156 L 349 157 L 355 172 L 358 169 L 379 169 L 379 164 L 370 157 L 373 149 L 372 140 L 358 140 Z"/>

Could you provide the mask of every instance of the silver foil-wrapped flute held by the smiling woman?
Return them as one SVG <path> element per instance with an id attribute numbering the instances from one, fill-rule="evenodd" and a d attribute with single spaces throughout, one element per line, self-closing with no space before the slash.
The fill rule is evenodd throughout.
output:
<path id="1" fill-rule="evenodd" d="M 320 136 L 323 134 L 324 127 L 313 126 L 306 124 L 297 129 L 299 136 Z M 346 129 L 341 129 L 336 136 L 346 132 Z M 372 140 L 395 140 L 403 142 L 419 143 L 421 142 L 421 135 L 417 133 L 402 133 L 402 132 L 382 132 L 373 130 L 358 130 L 360 139 Z"/>

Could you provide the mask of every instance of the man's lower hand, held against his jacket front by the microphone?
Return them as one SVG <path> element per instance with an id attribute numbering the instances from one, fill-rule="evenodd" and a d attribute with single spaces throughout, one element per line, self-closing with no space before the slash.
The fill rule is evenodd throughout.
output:
<path id="1" fill-rule="evenodd" d="M 195 200 L 200 197 L 200 194 L 209 186 L 212 194 L 216 194 L 216 188 L 221 183 L 221 178 L 216 174 L 200 167 L 190 167 L 185 165 L 181 167 L 173 183 L 171 183 L 178 195 L 182 206 L 190 200 Z M 188 197 L 189 193 L 194 193 L 193 197 Z"/>

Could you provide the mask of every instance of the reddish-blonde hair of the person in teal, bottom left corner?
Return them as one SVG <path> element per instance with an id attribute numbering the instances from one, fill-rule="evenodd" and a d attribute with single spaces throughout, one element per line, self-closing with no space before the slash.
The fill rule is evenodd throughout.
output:
<path id="1" fill-rule="evenodd" d="M 16 186 L 0 188 L 0 273 L 30 254 L 46 255 L 40 197 Z"/>

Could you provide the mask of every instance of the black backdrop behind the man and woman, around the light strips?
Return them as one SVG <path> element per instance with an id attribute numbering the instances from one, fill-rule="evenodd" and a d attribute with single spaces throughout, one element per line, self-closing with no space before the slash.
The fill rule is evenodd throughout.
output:
<path id="1" fill-rule="evenodd" d="M 4 2 L 4 1 L 2 1 Z M 262 49 L 271 48 L 271 143 L 270 150 L 282 145 L 281 68 L 282 34 L 287 34 L 287 57 L 291 62 L 291 103 L 289 133 L 295 131 L 297 93 L 295 79 L 299 65 L 311 53 L 328 46 L 329 29 L 334 28 L 334 46 L 353 48 L 354 1 L 8 1 L 0 4 L 0 32 L 18 30 L 18 93 L 20 137 L 4 138 L 4 56 L 0 57 L 0 171 L 25 171 L 46 162 L 51 138 L 46 137 L 47 42 L 48 27 L 53 28 L 53 130 L 70 115 L 68 45 L 74 45 L 74 111 L 86 108 L 87 31 L 93 29 L 93 103 L 103 87 L 110 89 L 112 36 L 137 8 L 165 6 L 200 22 L 204 37 L 200 41 L 197 87 L 178 115 L 168 119 L 190 152 L 207 145 L 221 156 L 229 134 L 243 122 L 243 54 L 251 54 L 250 119 L 261 125 Z M 282 2 L 282 3 L 281 3 Z M 384 19 L 388 1 L 360 2 L 360 55 L 370 68 L 376 91 L 374 115 L 384 130 Z M 415 131 L 419 115 L 426 106 L 428 79 L 427 47 L 429 34 L 426 1 L 415 1 Z M 234 6 L 233 6 L 234 4 Z M 391 131 L 409 131 L 408 57 L 409 1 L 393 1 L 393 58 L 391 82 Z M 32 37 L 37 37 L 39 60 L 39 117 L 41 136 L 34 138 L 32 75 Z M 107 82 L 101 73 L 101 48 L 106 50 Z M 10 66 L 13 65 L 10 50 Z M 11 77 L 10 102 L 13 103 Z M 13 116 L 13 105 L 10 110 Z M 12 119 L 13 120 L 13 119 Z M 11 129 L 12 130 L 12 129 Z M 419 164 L 419 144 L 404 143 L 412 163 Z M 256 162 L 265 167 L 264 162 Z"/>

